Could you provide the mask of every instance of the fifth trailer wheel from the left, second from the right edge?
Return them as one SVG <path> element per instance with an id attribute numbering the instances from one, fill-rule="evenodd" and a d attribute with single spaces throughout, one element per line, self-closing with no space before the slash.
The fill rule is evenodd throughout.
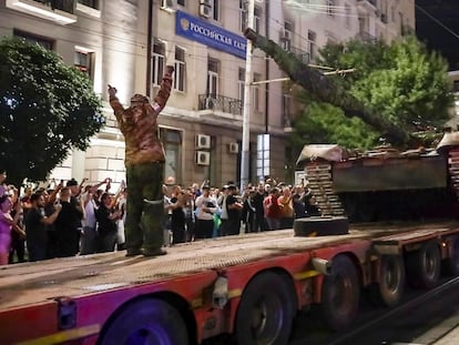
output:
<path id="1" fill-rule="evenodd" d="M 420 250 L 408 254 L 407 275 L 411 286 L 434 287 L 440 278 L 440 250 L 436 242 L 427 242 Z"/>

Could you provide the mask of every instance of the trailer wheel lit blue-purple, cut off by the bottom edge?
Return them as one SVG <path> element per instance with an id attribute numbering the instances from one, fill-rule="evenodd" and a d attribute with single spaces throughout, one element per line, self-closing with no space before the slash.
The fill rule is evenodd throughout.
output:
<path id="1" fill-rule="evenodd" d="M 102 331 L 99 345 L 188 344 L 186 325 L 178 311 L 161 300 L 128 305 Z"/>

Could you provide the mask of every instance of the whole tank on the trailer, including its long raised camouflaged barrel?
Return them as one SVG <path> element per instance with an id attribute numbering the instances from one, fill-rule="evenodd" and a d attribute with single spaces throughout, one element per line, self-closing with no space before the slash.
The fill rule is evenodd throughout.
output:
<path id="1" fill-rule="evenodd" d="M 381 119 L 294 53 L 252 29 L 244 34 L 292 81 L 318 100 L 343 109 L 347 116 L 360 118 L 382 133 L 389 144 L 363 153 L 334 144 L 303 149 L 297 163 L 305 168 L 322 216 L 346 216 L 354 223 L 458 217 L 458 132 L 446 133 L 435 148 L 424 149 L 422 135 Z M 424 146 L 402 152 L 394 149 L 410 145 Z"/>

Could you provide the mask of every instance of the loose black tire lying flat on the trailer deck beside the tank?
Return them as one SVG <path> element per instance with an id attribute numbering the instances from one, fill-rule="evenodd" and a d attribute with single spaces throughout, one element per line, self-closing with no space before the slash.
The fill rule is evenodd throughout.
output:
<path id="1" fill-rule="evenodd" d="M 344 235 L 349 233 L 345 216 L 312 216 L 294 222 L 295 236 Z"/>

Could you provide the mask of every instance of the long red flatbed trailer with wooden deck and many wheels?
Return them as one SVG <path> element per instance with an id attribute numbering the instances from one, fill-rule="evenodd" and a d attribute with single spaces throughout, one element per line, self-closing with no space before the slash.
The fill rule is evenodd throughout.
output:
<path id="1" fill-rule="evenodd" d="M 458 223 L 353 225 L 312 237 L 282 230 L 176 245 L 159 257 L 9 265 L 0 270 L 0 344 L 200 344 L 225 333 L 238 344 L 286 344 L 298 310 L 318 303 L 340 329 L 363 287 L 391 306 L 405 270 L 429 287 L 440 264 L 459 273 Z"/>

